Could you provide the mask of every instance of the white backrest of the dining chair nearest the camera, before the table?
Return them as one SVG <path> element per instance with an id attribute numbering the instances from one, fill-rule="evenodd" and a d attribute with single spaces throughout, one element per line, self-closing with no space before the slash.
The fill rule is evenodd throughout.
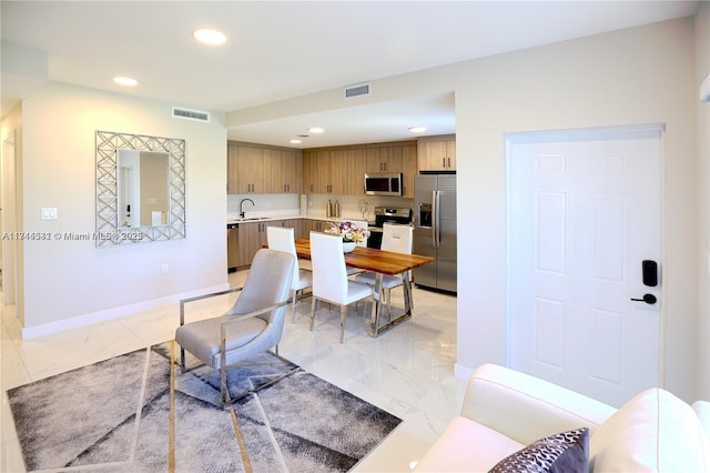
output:
<path id="1" fill-rule="evenodd" d="M 347 298 L 347 271 L 343 254 L 343 239 L 321 232 L 311 232 L 311 262 L 313 264 L 313 295 L 342 303 Z"/>

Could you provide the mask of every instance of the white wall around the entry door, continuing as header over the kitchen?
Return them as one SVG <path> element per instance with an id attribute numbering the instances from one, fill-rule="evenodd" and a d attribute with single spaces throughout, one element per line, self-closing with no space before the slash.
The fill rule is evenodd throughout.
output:
<path id="1" fill-rule="evenodd" d="M 698 339 L 708 319 L 697 281 L 708 225 L 698 220 L 698 41 L 709 39 L 693 38 L 689 17 L 373 81 L 366 101 L 455 92 L 462 373 L 505 363 L 505 133 L 665 123 L 665 385 L 698 396 L 698 344 L 708 344 L 707 332 Z M 342 107 L 339 90 L 329 90 L 233 112 L 227 123 Z"/>

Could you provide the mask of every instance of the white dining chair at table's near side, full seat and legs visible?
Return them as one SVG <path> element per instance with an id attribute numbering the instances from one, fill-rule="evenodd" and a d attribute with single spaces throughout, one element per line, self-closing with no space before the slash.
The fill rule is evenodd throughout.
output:
<path id="1" fill-rule="evenodd" d="M 345 339 L 345 315 L 353 302 L 372 296 L 371 285 L 349 280 L 345 269 L 343 239 L 339 235 L 311 232 L 311 261 L 313 262 L 313 302 L 311 330 L 321 301 L 341 306 L 341 343 Z"/>

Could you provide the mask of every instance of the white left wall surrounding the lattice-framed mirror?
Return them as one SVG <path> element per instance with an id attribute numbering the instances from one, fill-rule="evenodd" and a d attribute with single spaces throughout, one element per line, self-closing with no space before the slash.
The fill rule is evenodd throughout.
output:
<path id="1" fill-rule="evenodd" d="M 24 242 L 24 335 L 226 283 L 226 132 L 164 103 L 50 83 L 23 102 L 24 231 L 95 230 L 95 131 L 186 140 L 186 238 L 132 246 Z M 54 207 L 58 220 L 40 220 Z M 170 272 L 161 274 L 162 264 Z"/>

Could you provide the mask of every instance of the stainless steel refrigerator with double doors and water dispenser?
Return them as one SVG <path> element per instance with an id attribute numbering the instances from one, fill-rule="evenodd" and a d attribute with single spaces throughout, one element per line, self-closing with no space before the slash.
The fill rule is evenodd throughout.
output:
<path id="1" fill-rule="evenodd" d="M 434 258 L 414 270 L 414 283 L 456 292 L 456 174 L 416 175 L 414 200 L 414 252 Z"/>

